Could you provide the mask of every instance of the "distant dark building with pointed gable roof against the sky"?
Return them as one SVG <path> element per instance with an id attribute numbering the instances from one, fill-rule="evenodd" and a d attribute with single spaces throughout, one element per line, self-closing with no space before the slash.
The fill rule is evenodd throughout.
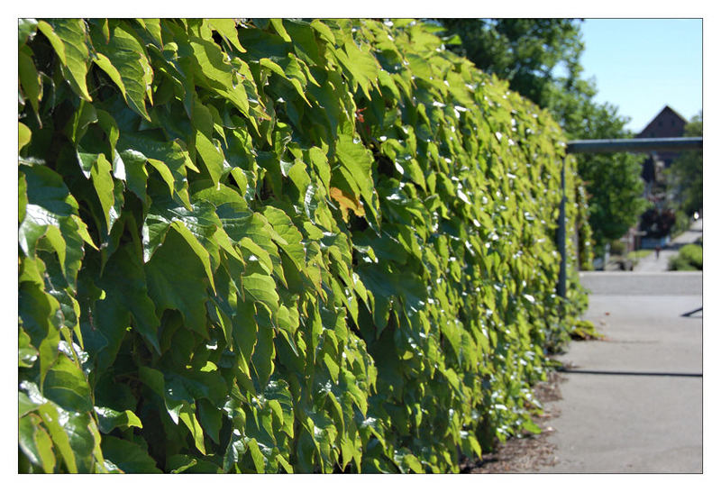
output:
<path id="1" fill-rule="evenodd" d="M 658 139 L 682 137 L 688 122 L 680 114 L 673 111 L 668 105 L 661 113 L 648 123 L 642 132 L 636 135 L 639 139 Z M 643 161 L 641 176 L 646 183 L 646 196 L 656 181 L 662 179 L 662 170 L 671 165 L 671 161 L 679 156 L 679 152 L 652 152 L 648 159 Z"/>

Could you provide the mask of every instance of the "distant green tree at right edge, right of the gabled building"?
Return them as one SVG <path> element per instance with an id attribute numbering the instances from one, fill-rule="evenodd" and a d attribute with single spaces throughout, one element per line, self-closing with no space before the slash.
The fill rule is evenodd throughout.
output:
<path id="1" fill-rule="evenodd" d="M 703 114 L 699 113 L 691 118 L 684 134 L 687 137 L 700 137 L 703 131 Z M 703 150 L 681 152 L 666 172 L 674 205 L 687 215 L 698 212 L 703 207 Z"/>

